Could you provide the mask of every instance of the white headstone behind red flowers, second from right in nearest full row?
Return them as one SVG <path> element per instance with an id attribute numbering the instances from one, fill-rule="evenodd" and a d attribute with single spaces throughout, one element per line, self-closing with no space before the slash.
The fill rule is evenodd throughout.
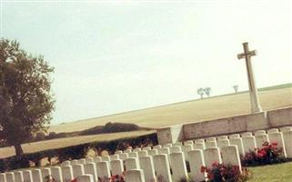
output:
<path id="1" fill-rule="evenodd" d="M 206 167 L 212 167 L 215 162 L 221 164 L 221 157 L 218 147 L 206 148 L 203 150 Z"/>

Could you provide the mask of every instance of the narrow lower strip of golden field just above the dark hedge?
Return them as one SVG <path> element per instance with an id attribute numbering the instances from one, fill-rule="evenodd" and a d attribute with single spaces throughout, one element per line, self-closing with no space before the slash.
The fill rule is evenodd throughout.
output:
<path id="1" fill-rule="evenodd" d="M 38 151 L 56 149 L 63 147 L 77 146 L 80 144 L 86 144 L 91 142 L 99 141 L 112 141 L 126 137 L 138 137 L 145 136 L 148 134 L 155 133 L 156 131 L 132 131 L 132 132 L 121 132 L 112 134 L 101 134 L 93 136 L 74 136 L 74 137 L 63 137 L 57 139 L 50 139 L 45 141 L 33 142 L 29 144 L 23 144 L 22 147 L 25 153 L 34 153 Z M 2 147 L 0 148 L 0 158 L 15 156 L 15 147 Z"/>

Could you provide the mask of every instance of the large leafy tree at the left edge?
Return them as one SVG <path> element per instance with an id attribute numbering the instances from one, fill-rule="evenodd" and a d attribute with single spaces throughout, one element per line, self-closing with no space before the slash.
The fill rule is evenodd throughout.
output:
<path id="1" fill-rule="evenodd" d="M 55 100 L 43 56 L 28 56 L 16 41 L 0 40 L 0 136 L 23 154 L 21 144 L 49 124 Z"/>

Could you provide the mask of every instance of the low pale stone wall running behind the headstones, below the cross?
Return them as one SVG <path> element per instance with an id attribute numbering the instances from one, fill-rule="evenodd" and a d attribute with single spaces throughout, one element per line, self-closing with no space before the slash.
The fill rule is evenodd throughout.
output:
<path id="1" fill-rule="evenodd" d="M 164 127 L 157 130 L 157 137 L 159 144 L 166 144 L 280 126 L 292 126 L 292 107 Z"/>

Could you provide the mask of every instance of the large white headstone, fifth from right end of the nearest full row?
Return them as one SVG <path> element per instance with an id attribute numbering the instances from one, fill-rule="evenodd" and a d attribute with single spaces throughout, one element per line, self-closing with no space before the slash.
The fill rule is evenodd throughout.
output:
<path id="1" fill-rule="evenodd" d="M 166 157 L 166 154 L 159 154 L 154 156 L 153 163 L 156 171 L 156 180 L 163 182 L 172 182 L 169 162 Z"/>

